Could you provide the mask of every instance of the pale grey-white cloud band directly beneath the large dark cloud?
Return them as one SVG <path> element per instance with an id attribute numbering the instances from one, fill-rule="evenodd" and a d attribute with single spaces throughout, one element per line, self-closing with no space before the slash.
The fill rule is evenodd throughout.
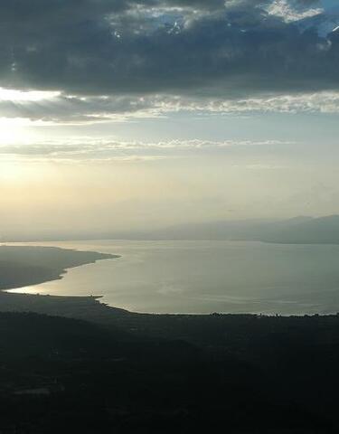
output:
<path id="1" fill-rule="evenodd" d="M 32 125 L 82 125 L 163 118 L 172 113 L 250 114 L 339 113 L 339 91 L 268 94 L 247 99 L 209 99 L 180 96 L 89 97 L 56 96 L 41 101 L 1 99 L 3 118 L 21 118 Z"/>

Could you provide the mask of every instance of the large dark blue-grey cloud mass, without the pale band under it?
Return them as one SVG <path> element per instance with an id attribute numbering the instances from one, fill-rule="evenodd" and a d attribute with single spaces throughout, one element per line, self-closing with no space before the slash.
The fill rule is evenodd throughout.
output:
<path id="1" fill-rule="evenodd" d="M 269 15 L 271 3 L 1 1 L 0 85 L 77 95 L 229 98 L 337 89 L 338 35 L 326 40 L 312 26 L 301 32 Z"/>

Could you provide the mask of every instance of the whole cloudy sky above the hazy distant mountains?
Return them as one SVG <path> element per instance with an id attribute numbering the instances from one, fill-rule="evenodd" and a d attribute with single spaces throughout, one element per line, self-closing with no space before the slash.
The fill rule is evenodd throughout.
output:
<path id="1" fill-rule="evenodd" d="M 334 0 L 0 0 L 1 234 L 339 213 Z"/>

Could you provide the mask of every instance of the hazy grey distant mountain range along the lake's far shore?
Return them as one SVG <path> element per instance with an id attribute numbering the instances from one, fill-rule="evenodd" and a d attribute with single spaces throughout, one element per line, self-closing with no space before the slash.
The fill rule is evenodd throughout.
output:
<path id="1" fill-rule="evenodd" d="M 243 220 L 177 224 L 148 231 L 96 231 L 30 234 L 3 237 L 2 241 L 63 240 L 224 240 L 302 244 L 339 244 L 339 215 L 299 216 L 287 220 Z"/>

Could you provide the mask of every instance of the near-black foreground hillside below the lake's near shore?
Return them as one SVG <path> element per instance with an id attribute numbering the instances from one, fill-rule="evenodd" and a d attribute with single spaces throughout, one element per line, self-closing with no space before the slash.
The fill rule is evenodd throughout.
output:
<path id="1" fill-rule="evenodd" d="M 0 314 L 0 432 L 338 432 L 337 316 L 137 321 Z"/>

